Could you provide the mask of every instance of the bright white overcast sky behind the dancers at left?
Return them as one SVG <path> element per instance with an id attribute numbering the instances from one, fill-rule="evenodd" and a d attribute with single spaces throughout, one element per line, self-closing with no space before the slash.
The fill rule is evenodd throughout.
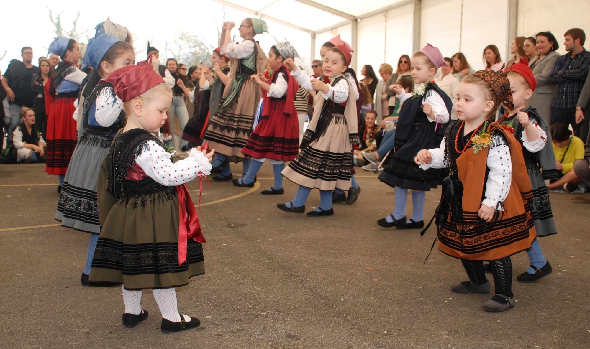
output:
<path id="1" fill-rule="evenodd" d="M 153 47 L 160 51 L 160 60 L 169 58 L 163 54 L 166 42 L 171 44 L 179 32 L 186 31 L 197 37 L 202 37 L 205 44 L 211 47 L 218 45 L 217 27 L 221 28 L 225 20 L 236 22 L 240 25 L 242 19 L 251 17 L 245 12 L 223 6 L 211 0 L 179 3 L 171 2 L 173 7 L 166 6 L 164 2 L 158 5 L 151 5 L 151 2 L 134 1 L 120 2 L 119 6 L 106 6 L 117 2 L 48 2 L 48 1 L 27 1 L 26 5 L 19 2 L 8 2 L 2 5 L 2 21 L 0 21 L 0 56 L 7 50 L 4 59 L 0 61 L 0 70 L 4 72 L 10 60 L 21 59 L 21 48 L 30 46 L 33 49 L 33 64 L 37 65 L 37 58 L 47 55 L 47 47 L 55 37 L 54 27 L 49 19 L 49 10 L 54 17 L 61 14 L 62 27 L 65 30 L 73 28 L 73 20 L 80 11 L 78 19 L 78 31 L 86 31 L 90 37 L 94 36 L 94 27 L 106 20 L 107 16 L 111 21 L 124 25 L 133 33 L 133 45 L 142 52 L 137 55 L 136 60 L 146 58 L 147 40 Z M 149 6 L 144 4 L 150 4 Z M 178 5 L 182 4 L 182 5 Z M 192 8 L 189 5 L 192 4 Z M 297 49 L 301 58 L 309 62 L 310 35 L 281 24 L 267 21 L 270 34 L 257 35 L 257 40 L 268 54 L 271 45 L 275 40 L 284 41 L 288 39 Z M 234 29 L 237 40 L 237 28 Z M 165 57 L 163 57 L 165 56 Z M 309 65 L 309 64 L 308 64 Z M 306 67 L 307 68 L 307 67 Z"/>

